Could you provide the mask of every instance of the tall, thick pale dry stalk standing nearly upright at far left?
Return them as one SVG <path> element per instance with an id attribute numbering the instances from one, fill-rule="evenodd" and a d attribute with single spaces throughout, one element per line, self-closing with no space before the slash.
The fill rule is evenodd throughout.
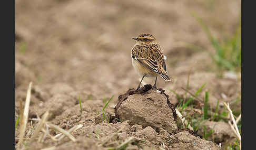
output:
<path id="1" fill-rule="evenodd" d="M 26 129 L 26 124 L 27 124 L 27 120 L 28 120 L 29 103 L 30 103 L 30 98 L 31 98 L 31 88 L 32 88 L 32 82 L 29 83 L 28 89 L 27 89 L 25 108 L 24 108 L 24 112 L 22 114 L 21 128 L 19 130 L 18 149 L 22 148 L 23 137 L 25 135 L 25 129 Z"/>

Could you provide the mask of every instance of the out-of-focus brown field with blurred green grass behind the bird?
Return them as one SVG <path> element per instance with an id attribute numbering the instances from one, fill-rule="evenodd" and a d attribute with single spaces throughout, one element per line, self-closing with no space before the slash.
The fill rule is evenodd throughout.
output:
<path id="1" fill-rule="evenodd" d="M 157 88 L 171 103 L 178 107 L 188 100 L 184 88 L 195 93 L 204 87 L 198 97 L 209 93 L 213 112 L 229 102 L 235 116 L 241 113 L 241 1 L 16 0 L 15 13 L 16 120 L 30 81 L 29 115 L 45 111 L 43 104 L 59 93 L 75 98 L 72 105 L 63 99 L 65 109 L 78 97 L 105 102 L 114 95 L 113 108 L 119 94 L 140 82 L 131 37 L 143 33 L 155 36 L 167 57 L 174 82 L 159 78 Z"/>

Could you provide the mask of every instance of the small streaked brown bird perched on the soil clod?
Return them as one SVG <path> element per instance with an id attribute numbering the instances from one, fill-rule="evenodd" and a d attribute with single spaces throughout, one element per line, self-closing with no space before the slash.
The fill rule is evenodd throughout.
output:
<path id="1" fill-rule="evenodd" d="M 172 81 L 166 71 L 165 59 L 160 45 L 156 38 L 148 33 L 132 37 L 136 41 L 131 50 L 132 66 L 142 77 L 136 90 L 140 88 L 144 77 L 155 77 L 155 83 L 152 88 L 156 88 L 156 80 L 161 76 L 165 81 Z"/>

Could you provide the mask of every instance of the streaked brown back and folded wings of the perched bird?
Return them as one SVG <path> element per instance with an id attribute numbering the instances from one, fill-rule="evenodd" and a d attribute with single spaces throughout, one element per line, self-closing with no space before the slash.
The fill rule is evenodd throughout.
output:
<path id="1" fill-rule="evenodd" d="M 166 72 L 164 56 L 159 45 L 150 48 L 137 45 L 132 50 L 132 57 L 157 74 Z"/>

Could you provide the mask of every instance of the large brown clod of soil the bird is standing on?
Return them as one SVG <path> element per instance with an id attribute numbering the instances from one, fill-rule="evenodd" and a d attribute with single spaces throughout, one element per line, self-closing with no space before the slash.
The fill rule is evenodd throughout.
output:
<path id="1" fill-rule="evenodd" d="M 130 125 L 140 124 L 143 128 L 160 128 L 168 133 L 176 133 L 175 106 L 169 101 L 169 96 L 162 89 L 152 88 L 146 84 L 139 90 L 129 89 L 119 96 L 115 107 L 115 117 L 121 122 L 129 120 Z"/>

